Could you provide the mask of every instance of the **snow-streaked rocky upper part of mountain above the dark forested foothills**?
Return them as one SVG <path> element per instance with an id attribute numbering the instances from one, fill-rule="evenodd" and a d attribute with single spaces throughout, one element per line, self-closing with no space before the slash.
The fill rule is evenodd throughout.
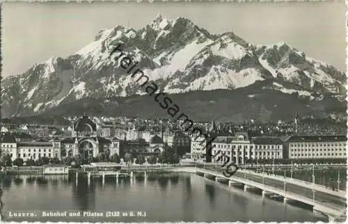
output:
<path id="1" fill-rule="evenodd" d="M 81 99 L 104 103 L 114 97 L 144 95 L 143 88 L 109 56 L 119 42 L 166 93 L 239 88 L 250 92 L 247 87 L 258 82 L 262 83 L 258 94 L 272 90 L 296 95 L 298 100 L 334 99 L 343 109 L 346 105 L 345 73 L 285 42 L 251 45 L 232 32 L 213 35 L 184 17 L 169 20 L 158 15 L 143 29 L 104 29 L 94 42 L 67 58 L 49 58 L 23 74 L 3 79 L 2 116 L 48 113 Z M 244 94 L 250 95 L 246 90 Z M 233 91 L 230 98 L 234 98 Z M 214 100 L 219 102 L 219 94 Z M 276 97 L 269 95 L 269 100 Z"/>

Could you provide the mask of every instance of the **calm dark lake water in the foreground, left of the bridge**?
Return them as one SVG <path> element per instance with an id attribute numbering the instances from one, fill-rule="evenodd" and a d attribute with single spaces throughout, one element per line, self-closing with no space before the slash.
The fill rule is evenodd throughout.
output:
<path id="1" fill-rule="evenodd" d="M 106 177 L 104 184 L 101 177 L 88 184 L 81 173 L 77 181 L 75 175 L 1 178 L 1 214 L 6 221 L 328 221 L 310 209 L 262 199 L 191 173 L 150 173 L 146 179 L 136 174 L 133 180 L 122 177 L 118 182 Z M 9 217 L 9 212 L 19 211 L 32 211 L 36 217 Z M 42 217 L 42 211 L 67 211 L 67 216 Z M 72 211 L 81 211 L 81 216 L 68 217 Z M 83 216 L 84 211 L 104 216 Z M 106 211 L 120 211 L 120 216 L 106 217 Z M 122 211 L 128 216 L 122 216 Z M 134 211 L 133 217 L 129 211 Z"/>

